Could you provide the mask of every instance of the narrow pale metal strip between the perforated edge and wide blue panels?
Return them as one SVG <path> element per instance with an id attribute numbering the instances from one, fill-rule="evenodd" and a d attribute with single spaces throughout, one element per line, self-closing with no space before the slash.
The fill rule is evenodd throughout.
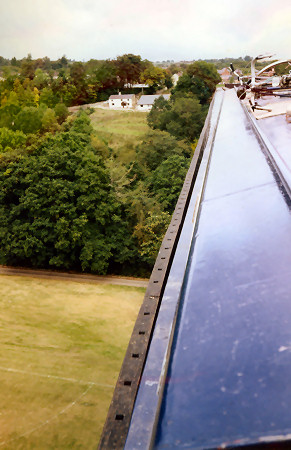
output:
<path id="1" fill-rule="evenodd" d="M 220 113 L 222 109 L 224 97 L 218 99 L 217 111 L 214 112 L 213 108 L 211 111 L 211 124 L 209 127 L 209 135 L 207 138 L 207 142 L 204 148 L 203 158 L 199 167 L 199 171 L 195 180 L 195 185 L 193 186 L 193 190 L 191 193 L 191 199 L 189 203 L 189 209 L 187 211 L 184 223 L 183 230 L 181 232 L 180 237 L 183 237 L 183 249 L 180 249 L 180 242 L 177 245 L 176 253 L 173 258 L 173 262 L 171 265 L 171 270 L 175 270 L 175 265 L 182 265 L 182 270 L 184 271 L 184 275 L 187 270 L 187 265 L 189 263 L 189 255 L 193 245 L 193 236 L 195 235 L 195 230 L 197 229 L 197 223 L 199 222 L 200 217 L 200 207 L 201 200 L 203 198 L 203 192 L 206 184 L 206 179 L 209 171 L 209 164 L 212 154 L 213 143 L 216 136 L 216 130 L 220 118 Z M 216 100 L 216 97 L 215 97 Z M 217 100 L 216 100 L 217 101 Z M 214 120 L 213 120 L 214 116 Z M 212 123 L 213 121 L 213 123 Z M 194 212 L 193 212 L 194 208 Z M 188 223 L 192 223 L 191 230 L 184 230 L 184 225 Z M 185 242 L 188 242 L 188 250 L 185 249 Z M 178 261 L 176 261 L 176 255 L 178 256 Z M 182 261 L 181 261 L 182 257 Z M 181 269 L 181 267 L 180 267 Z M 171 279 L 171 270 L 169 272 L 168 280 Z M 153 332 L 153 337 L 151 341 L 151 346 L 154 345 L 155 350 L 151 355 L 151 349 L 149 349 L 148 357 L 151 356 L 150 361 L 145 362 L 144 371 L 141 377 L 141 388 L 142 388 L 142 396 L 139 399 L 139 392 L 137 393 L 136 403 L 134 405 L 134 410 L 130 422 L 130 427 L 127 435 L 127 439 L 125 442 L 125 449 L 138 449 L 138 448 L 147 448 L 152 449 L 154 446 L 155 436 L 157 424 L 159 421 L 160 408 L 163 398 L 163 392 L 166 384 L 168 365 L 170 361 L 170 354 L 173 342 L 173 336 L 175 333 L 175 325 L 176 319 L 178 315 L 181 292 L 184 286 L 185 277 L 181 277 L 179 287 L 175 282 L 175 288 L 167 286 L 165 287 L 163 298 L 161 299 L 161 308 L 159 311 L 159 316 L 156 321 L 155 330 Z M 170 309 L 168 301 L 170 300 Z M 163 308 L 163 305 L 165 306 Z M 166 321 L 165 323 L 165 315 Z M 158 330 L 156 330 L 158 328 Z M 156 333 L 157 332 L 157 333 Z M 155 358 L 159 355 L 159 361 L 157 362 L 158 368 L 153 369 L 153 365 L 156 364 Z M 155 370 L 157 374 L 154 375 Z M 148 377 L 150 383 L 147 383 Z M 154 377 L 156 380 L 152 383 L 151 378 Z M 144 379 L 143 379 L 144 378 Z M 143 407 L 143 399 L 147 399 L 147 405 L 145 408 Z M 149 407 L 148 400 L 151 399 L 151 406 Z M 137 408 L 137 410 L 136 410 Z M 146 420 L 143 420 L 143 417 Z M 143 425 L 141 425 L 143 424 Z"/>

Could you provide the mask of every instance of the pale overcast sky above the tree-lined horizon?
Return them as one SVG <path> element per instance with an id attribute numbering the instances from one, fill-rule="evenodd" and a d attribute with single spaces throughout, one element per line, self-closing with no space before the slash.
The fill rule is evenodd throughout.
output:
<path id="1" fill-rule="evenodd" d="M 291 57 L 291 0 L 0 0 L 0 55 Z"/>

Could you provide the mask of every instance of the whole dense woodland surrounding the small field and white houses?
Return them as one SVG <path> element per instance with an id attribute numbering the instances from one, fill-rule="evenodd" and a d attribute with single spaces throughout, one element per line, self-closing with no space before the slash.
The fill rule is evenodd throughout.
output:
<path id="1" fill-rule="evenodd" d="M 125 163 L 94 131 L 91 109 L 69 115 L 67 107 L 127 83 L 169 89 L 168 70 L 136 55 L 0 65 L 0 263 L 147 275 L 220 81 L 215 66 L 187 66 Z"/>

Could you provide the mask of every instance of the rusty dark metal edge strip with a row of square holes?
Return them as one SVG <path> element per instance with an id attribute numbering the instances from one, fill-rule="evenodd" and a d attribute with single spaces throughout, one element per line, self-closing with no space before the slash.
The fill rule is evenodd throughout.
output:
<path id="1" fill-rule="evenodd" d="M 160 247 L 115 386 L 98 450 L 123 449 L 169 270 L 208 138 L 213 100 Z"/>

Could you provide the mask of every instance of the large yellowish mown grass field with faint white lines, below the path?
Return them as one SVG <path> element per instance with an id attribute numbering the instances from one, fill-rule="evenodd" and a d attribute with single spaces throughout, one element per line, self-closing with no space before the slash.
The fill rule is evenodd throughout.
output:
<path id="1" fill-rule="evenodd" d="M 144 291 L 0 276 L 0 448 L 97 447 Z"/>

